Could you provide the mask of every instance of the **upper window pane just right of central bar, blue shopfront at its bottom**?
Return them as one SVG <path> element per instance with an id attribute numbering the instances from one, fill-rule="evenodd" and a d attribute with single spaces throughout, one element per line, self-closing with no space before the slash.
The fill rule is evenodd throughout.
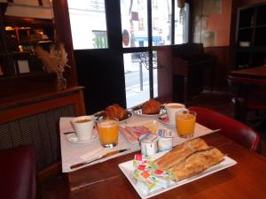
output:
<path id="1" fill-rule="evenodd" d="M 171 33 L 171 0 L 153 0 L 153 46 L 169 45 Z"/>

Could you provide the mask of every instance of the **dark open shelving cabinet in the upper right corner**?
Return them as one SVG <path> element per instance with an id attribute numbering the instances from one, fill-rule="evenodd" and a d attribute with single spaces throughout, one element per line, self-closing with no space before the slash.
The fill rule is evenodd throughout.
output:
<path id="1" fill-rule="evenodd" d="M 266 64 L 266 4 L 239 8 L 236 30 L 234 69 Z"/>

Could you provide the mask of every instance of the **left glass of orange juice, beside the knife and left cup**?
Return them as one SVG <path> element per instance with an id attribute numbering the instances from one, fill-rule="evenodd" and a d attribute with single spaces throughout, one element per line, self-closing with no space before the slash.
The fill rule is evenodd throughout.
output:
<path id="1" fill-rule="evenodd" d="M 119 121 L 115 118 L 99 119 L 98 136 L 103 147 L 113 148 L 118 142 Z"/>

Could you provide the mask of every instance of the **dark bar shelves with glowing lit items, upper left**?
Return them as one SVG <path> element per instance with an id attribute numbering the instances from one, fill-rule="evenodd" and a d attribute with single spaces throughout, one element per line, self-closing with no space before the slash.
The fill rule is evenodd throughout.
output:
<path id="1" fill-rule="evenodd" d="M 43 72 L 43 63 L 38 60 L 33 50 L 36 44 L 48 49 L 54 42 L 54 28 L 51 19 L 30 19 L 3 16 L 0 20 L 0 45 L 2 52 L 1 69 L 4 76 L 21 77 L 18 60 L 28 62 L 29 73 Z M 27 67 L 27 66 L 26 66 Z"/>

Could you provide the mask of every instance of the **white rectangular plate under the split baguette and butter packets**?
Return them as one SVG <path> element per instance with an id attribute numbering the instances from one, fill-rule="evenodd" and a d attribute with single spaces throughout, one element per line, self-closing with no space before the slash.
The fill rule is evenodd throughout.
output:
<path id="1" fill-rule="evenodd" d="M 162 155 L 164 155 L 166 152 L 161 152 L 161 153 L 157 153 L 153 156 L 153 160 L 157 159 L 159 157 L 161 157 Z M 186 183 L 189 183 L 191 181 L 194 180 L 198 180 L 200 178 L 203 178 L 207 175 L 210 175 L 214 172 L 219 172 L 223 169 L 226 169 L 228 167 L 231 167 L 232 165 L 236 165 L 237 162 L 233 159 L 231 159 L 230 157 L 224 157 L 223 162 L 221 162 L 218 165 L 214 165 L 210 168 L 208 168 L 206 171 L 201 172 L 198 175 L 192 176 L 191 178 L 185 179 L 185 180 L 181 180 L 178 182 L 174 182 L 171 181 L 171 183 L 169 184 L 168 188 L 154 188 L 153 192 L 150 193 L 145 193 L 145 191 L 143 191 L 140 187 L 137 187 L 137 182 L 133 177 L 133 172 L 135 170 L 135 167 L 133 167 L 133 160 L 130 160 L 128 162 L 125 163 L 121 163 L 119 166 L 119 168 L 121 169 L 121 171 L 124 173 L 124 175 L 128 178 L 129 182 L 131 183 L 131 185 L 133 186 L 133 188 L 135 188 L 135 190 L 137 191 L 137 194 L 141 197 L 141 198 L 149 198 L 152 197 L 154 195 L 159 195 L 163 192 L 166 192 L 172 188 L 177 188 L 179 186 L 182 186 Z"/>

